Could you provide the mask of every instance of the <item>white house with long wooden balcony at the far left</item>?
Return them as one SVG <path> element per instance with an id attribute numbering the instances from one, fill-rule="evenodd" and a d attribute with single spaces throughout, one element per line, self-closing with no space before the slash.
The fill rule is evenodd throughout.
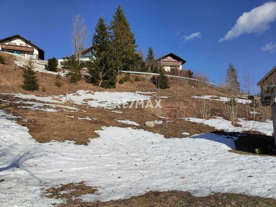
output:
<path id="1" fill-rule="evenodd" d="M 18 34 L 0 40 L 0 50 L 34 60 L 44 60 L 44 50 Z"/>

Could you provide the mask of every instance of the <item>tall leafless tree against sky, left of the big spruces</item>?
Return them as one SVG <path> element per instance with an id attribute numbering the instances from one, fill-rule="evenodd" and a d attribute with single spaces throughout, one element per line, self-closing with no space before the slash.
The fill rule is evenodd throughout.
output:
<path id="1" fill-rule="evenodd" d="M 75 56 L 78 60 L 80 60 L 81 52 L 84 49 L 85 42 L 88 38 L 88 33 L 86 24 L 79 14 L 73 17 L 72 35 Z"/>

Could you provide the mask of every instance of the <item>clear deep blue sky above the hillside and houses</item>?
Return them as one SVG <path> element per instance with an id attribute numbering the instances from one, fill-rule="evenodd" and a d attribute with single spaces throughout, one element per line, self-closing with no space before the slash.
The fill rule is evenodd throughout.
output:
<path id="1" fill-rule="evenodd" d="M 264 3 L 267 1 L 0 0 L 0 8 L 6 8 L 0 13 L 0 39 L 20 34 L 44 49 L 46 59 L 61 58 L 73 51 L 70 27 L 74 14 L 80 14 L 87 24 L 89 46 L 99 16 L 103 15 L 109 23 L 120 4 L 135 34 L 138 50 L 146 54 L 151 46 L 156 57 L 173 52 L 187 61 L 184 68 L 217 83 L 224 81 L 231 61 L 241 84 L 244 71 L 250 73 L 256 84 L 276 65 L 276 51 L 273 51 L 276 49 L 273 15 L 276 7 L 270 13 L 265 8 L 251 12 Z M 251 12 L 249 17 L 244 15 L 241 19 L 246 19 L 245 23 L 240 21 L 229 37 L 220 42 L 244 12 Z M 256 12 L 264 19 L 256 20 Z"/>

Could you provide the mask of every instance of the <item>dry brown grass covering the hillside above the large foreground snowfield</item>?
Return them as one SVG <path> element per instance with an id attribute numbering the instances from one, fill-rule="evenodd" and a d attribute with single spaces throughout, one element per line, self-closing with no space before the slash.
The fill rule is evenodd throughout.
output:
<path id="1" fill-rule="evenodd" d="M 0 52 L 1 54 L 3 52 Z M 91 90 L 91 91 L 109 91 L 109 92 L 157 92 L 157 88 L 150 81 L 150 76 L 139 76 L 140 81 L 135 81 L 135 75 L 131 75 L 131 80 L 124 84 L 116 85 L 116 88 L 105 89 L 102 87 L 94 86 L 81 80 L 77 84 L 70 83 L 66 78 L 62 78 L 62 87 L 54 86 L 55 76 L 46 73 L 37 73 L 40 90 L 37 92 L 27 92 L 22 90 L 22 71 L 13 67 L 14 55 L 3 53 L 7 65 L 1 65 L 0 67 L 0 93 L 22 93 L 22 94 L 35 94 L 37 96 L 50 96 L 50 95 L 65 95 L 66 93 L 74 93 L 77 90 Z M 122 74 L 124 75 L 124 74 Z M 118 77 L 119 79 L 120 77 Z M 170 79 L 170 88 L 166 90 L 160 90 L 160 96 L 169 97 L 163 98 L 161 101 L 162 109 L 160 115 L 164 117 L 170 116 L 168 121 L 174 121 L 166 123 L 165 119 L 161 119 L 163 124 L 156 125 L 154 128 L 148 128 L 144 126 L 146 121 L 159 120 L 157 109 L 119 109 L 123 113 L 113 113 L 111 110 L 103 108 L 87 108 L 85 105 L 78 105 L 79 109 L 85 110 L 74 113 L 70 112 L 44 112 L 38 110 L 29 110 L 17 108 L 17 104 L 14 103 L 1 103 L 0 108 L 5 109 L 8 113 L 13 115 L 21 115 L 24 119 L 33 120 L 33 122 L 18 121 L 23 126 L 28 127 L 30 134 L 39 142 L 47 142 L 50 140 L 74 140 L 77 144 L 86 144 L 89 138 L 98 137 L 95 130 L 101 130 L 103 126 L 118 126 L 118 127 L 132 127 L 130 125 L 121 124 L 115 119 L 119 120 L 131 120 L 138 122 L 140 127 L 138 129 L 144 129 L 154 133 L 163 134 L 166 138 L 170 137 L 185 137 L 182 132 L 189 132 L 190 134 L 205 133 L 213 131 L 213 128 L 206 125 L 198 125 L 191 122 L 181 121 L 182 117 L 194 117 L 195 114 L 200 114 L 200 107 L 202 106 L 199 99 L 192 98 L 192 96 L 201 95 L 215 95 L 225 96 L 222 88 L 205 85 L 204 88 L 199 87 L 197 84 L 192 84 L 187 81 L 180 81 L 176 79 Z M 45 88 L 45 92 L 42 88 Z M 204 90 L 204 92 L 203 92 Z M 0 99 L 9 99 L 8 96 L 0 95 Z M 218 101 L 210 101 L 211 109 L 208 112 L 208 116 L 222 116 L 225 110 L 225 104 Z M 72 106 L 71 103 L 67 103 Z M 177 111 L 170 111 L 171 106 L 176 106 Z M 240 110 L 242 104 L 239 104 Z M 257 110 L 257 109 L 256 109 Z M 263 109 L 264 110 L 264 109 Z M 265 109 L 269 111 L 268 109 Z M 74 115 L 75 118 L 66 117 L 65 115 Z M 242 117 L 242 114 L 239 117 Z M 92 121 L 80 121 L 77 117 L 97 117 L 99 120 Z"/>

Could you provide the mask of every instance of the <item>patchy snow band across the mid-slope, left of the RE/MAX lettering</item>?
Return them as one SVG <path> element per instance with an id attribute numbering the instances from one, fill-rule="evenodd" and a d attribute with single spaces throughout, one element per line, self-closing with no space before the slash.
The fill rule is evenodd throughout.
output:
<path id="1" fill-rule="evenodd" d="M 65 95 L 38 97 L 35 95 L 25 94 L 8 94 L 14 98 L 20 99 L 33 99 L 41 102 L 48 103 L 64 103 L 66 100 Z M 145 96 L 140 92 L 92 92 L 87 90 L 78 90 L 74 94 L 67 95 L 67 101 L 77 105 L 88 105 L 89 107 L 102 107 L 113 109 L 117 104 L 126 104 L 131 101 L 145 101 L 151 99 L 151 96 Z M 65 106 L 64 106 L 65 107 Z"/>

